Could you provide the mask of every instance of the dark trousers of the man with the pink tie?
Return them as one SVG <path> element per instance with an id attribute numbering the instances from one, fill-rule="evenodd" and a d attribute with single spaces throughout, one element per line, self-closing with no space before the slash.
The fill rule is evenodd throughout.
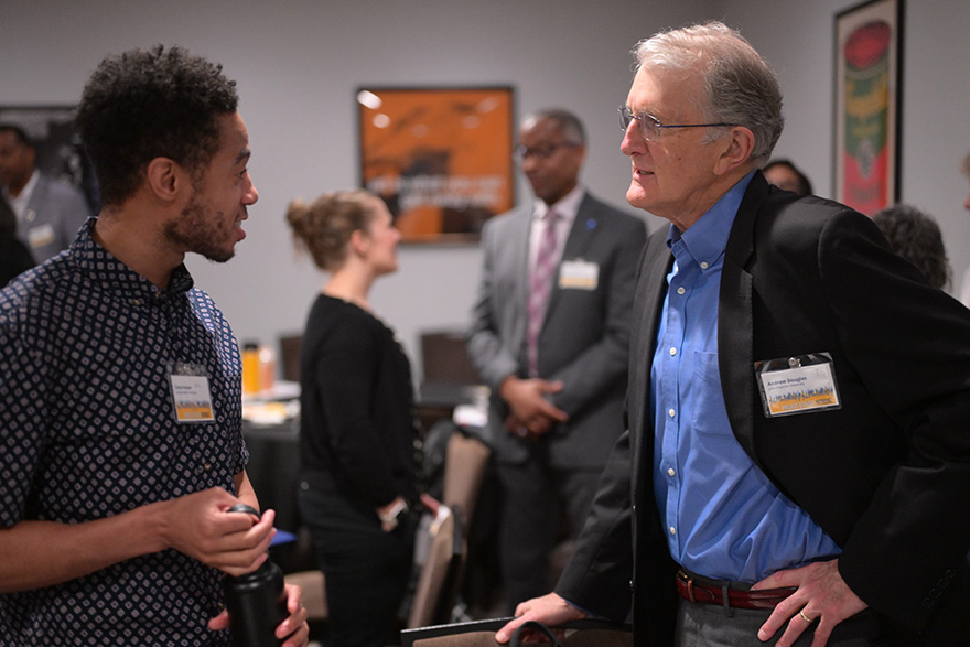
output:
<path id="1" fill-rule="evenodd" d="M 519 602 L 548 593 L 549 557 L 559 535 L 564 505 L 570 537 L 583 528 L 601 468 L 556 468 L 534 460 L 498 464 L 499 564 L 509 613 Z"/>

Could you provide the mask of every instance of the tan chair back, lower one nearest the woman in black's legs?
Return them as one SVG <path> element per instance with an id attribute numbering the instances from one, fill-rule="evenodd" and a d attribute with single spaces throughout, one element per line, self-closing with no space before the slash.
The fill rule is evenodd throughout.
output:
<path id="1" fill-rule="evenodd" d="M 432 525 L 431 532 L 431 547 L 418 576 L 408 627 L 446 623 L 457 599 L 466 552 L 461 509 L 452 508 L 451 514 Z"/>

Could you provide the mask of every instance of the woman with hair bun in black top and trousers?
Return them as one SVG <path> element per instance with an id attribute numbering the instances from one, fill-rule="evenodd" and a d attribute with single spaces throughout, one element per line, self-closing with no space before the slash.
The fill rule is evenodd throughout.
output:
<path id="1" fill-rule="evenodd" d="M 397 270 L 387 205 L 360 190 L 293 202 L 299 248 L 330 272 L 300 357 L 300 514 L 324 572 L 328 647 L 396 643 L 411 571 L 420 434 L 408 357 L 368 294 Z"/>

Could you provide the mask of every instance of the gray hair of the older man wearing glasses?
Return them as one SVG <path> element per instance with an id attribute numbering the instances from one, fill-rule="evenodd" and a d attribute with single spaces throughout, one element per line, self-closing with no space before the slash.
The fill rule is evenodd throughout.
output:
<path id="1" fill-rule="evenodd" d="M 711 122 L 736 123 L 754 133 L 751 159 L 766 161 L 782 129 L 782 89 L 761 54 L 737 31 L 708 22 L 660 32 L 637 43 L 637 67 L 701 75 L 697 107 Z M 713 136 L 711 139 L 716 139 Z"/>

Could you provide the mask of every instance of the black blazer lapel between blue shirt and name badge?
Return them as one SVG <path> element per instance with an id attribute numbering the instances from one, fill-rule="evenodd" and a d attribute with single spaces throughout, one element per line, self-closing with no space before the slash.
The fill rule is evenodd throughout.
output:
<path id="1" fill-rule="evenodd" d="M 761 172 L 752 179 L 737 209 L 721 272 L 718 306 L 718 360 L 728 419 L 747 455 L 761 464 L 754 444 L 754 321 L 752 317 L 752 274 L 748 263 L 754 251 L 757 212 L 768 193 Z"/>

